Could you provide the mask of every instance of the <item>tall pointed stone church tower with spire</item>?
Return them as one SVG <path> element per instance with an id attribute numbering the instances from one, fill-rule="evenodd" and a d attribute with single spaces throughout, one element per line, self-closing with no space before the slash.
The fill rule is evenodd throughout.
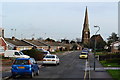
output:
<path id="1" fill-rule="evenodd" d="M 86 7 L 83 31 L 82 31 L 82 43 L 88 44 L 89 41 L 90 41 L 90 30 L 89 30 L 89 23 L 88 23 L 88 11 Z"/>

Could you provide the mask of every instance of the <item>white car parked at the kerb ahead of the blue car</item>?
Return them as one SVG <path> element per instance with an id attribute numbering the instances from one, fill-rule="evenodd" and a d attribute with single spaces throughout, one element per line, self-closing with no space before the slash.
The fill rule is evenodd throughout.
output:
<path id="1" fill-rule="evenodd" d="M 43 64 L 59 64 L 59 58 L 57 57 L 57 55 L 46 55 L 43 58 Z"/>

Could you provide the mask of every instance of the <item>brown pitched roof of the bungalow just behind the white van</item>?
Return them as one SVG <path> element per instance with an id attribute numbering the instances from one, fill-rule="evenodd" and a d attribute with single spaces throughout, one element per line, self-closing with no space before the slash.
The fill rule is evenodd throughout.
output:
<path id="1" fill-rule="evenodd" d="M 31 46 L 30 44 L 23 42 L 21 40 L 18 40 L 15 38 L 15 40 L 13 40 L 12 38 L 4 38 L 6 42 L 9 42 L 15 46 Z"/>

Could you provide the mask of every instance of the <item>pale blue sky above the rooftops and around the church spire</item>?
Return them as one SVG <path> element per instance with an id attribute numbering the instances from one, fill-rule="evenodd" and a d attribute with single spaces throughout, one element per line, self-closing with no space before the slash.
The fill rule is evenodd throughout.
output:
<path id="1" fill-rule="evenodd" d="M 4 2 L 2 3 L 2 27 L 5 36 L 75 39 L 82 37 L 85 8 L 88 6 L 91 36 L 100 26 L 99 33 L 106 40 L 112 32 L 118 32 L 117 2 Z"/>

